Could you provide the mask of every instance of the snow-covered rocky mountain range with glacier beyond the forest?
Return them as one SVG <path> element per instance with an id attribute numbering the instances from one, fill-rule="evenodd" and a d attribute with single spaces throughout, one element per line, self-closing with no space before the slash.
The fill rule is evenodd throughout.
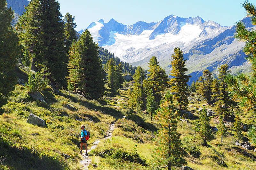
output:
<path id="1" fill-rule="evenodd" d="M 253 27 L 250 18 L 243 21 L 247 28 Z M 170 15 L 156 23 L 139 21 L 131 26 L 118 23 L 113 18 L 108 23 L 100 19 L 86 29 L 99 46 L 108 49 L 122 61 L 146 69 L 150 57 L 155 55 L 169 73 L 173 48 L 180 47 L 187 59 L 187 73 L 192 75 L 190 82 L 201 76 L 205 69 L 217 74 L 217 68 L 225 63 L 233 73 L 249 68 L 242 51 L 244 42 L 234 38 L 236 27 L 221 26 L 200 17 Z"/>

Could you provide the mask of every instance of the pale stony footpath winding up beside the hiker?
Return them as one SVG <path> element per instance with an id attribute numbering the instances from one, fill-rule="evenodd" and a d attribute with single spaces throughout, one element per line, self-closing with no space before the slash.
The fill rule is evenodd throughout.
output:
<path id="1" fill-rule="evenodd" d="M 114 131 L 114 129 L 115 129 L 115 124 L 109 125 L 107 136 L 102 139 L 108 139 L 112 137 L 112 132 Z M 96 139 L 93 142 L 92 147 L 88 149 L 88 155 L 90 155 L 90 152 L 92 151 L 92 149 L 95 149 L 98 146 L 98 144 L 102 139 Z M 90 156 L 85 156 L 85 150 L 83 150 L 83 160 L 80 163 L 83 165 L 82 170 L 88 170 L 88 166 L 92 163 L 92 159 L 90 158 Z"/>

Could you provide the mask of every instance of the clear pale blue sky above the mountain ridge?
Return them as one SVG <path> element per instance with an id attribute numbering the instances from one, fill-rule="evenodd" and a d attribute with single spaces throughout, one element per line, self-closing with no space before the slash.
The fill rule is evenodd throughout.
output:
<path id="1" fill-rule="evenodd" d="M 132 25 L 137 21 L 158 22 L 171 14 L 188 18 L 200 16 L 223 26 L 245 17 L 243 0 L 58 0 L 62 15 L 75 16 L 76 30 L 103 19 Z M 250 0 L 256 5 L 256 0 Z"/>

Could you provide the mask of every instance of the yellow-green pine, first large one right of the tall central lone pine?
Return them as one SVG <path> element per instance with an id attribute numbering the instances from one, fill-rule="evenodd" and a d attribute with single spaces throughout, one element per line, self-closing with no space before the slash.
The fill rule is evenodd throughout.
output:
<path id="1" fill-rule="evenodd" d="M 204 96 L 209 103 L 212 97 L 212 73 L 209 70 L 204 70 L 203 75 L 198 79 L 197 92 Z"/>

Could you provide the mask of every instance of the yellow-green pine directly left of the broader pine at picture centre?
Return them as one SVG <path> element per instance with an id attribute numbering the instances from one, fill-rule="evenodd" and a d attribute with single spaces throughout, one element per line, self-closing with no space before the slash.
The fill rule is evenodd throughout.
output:
<path id="1" fill-rule="evenodd" d="M 145 79 L 145 70 L 140 66 L 136 69 L 133 76 L 135 81 L 133 91 L 130 95 L 129 104 L 137 112 L 141 112 L 145 108 L 145 93 L 143 90 L 143 81 Z"/>

